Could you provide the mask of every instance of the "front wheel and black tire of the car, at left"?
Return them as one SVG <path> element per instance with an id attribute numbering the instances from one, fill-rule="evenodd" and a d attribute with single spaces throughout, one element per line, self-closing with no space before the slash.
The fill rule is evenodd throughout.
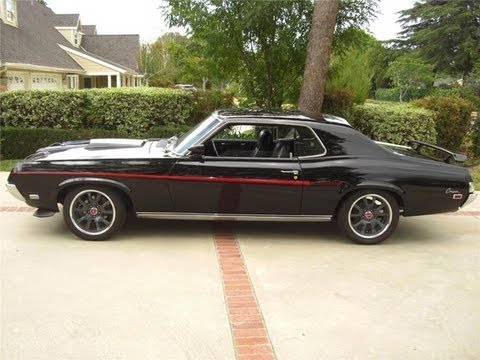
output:
<path id="1" fill-rule="evenodd" d="M 74 188 L 65 197 L 63 219 L 84 240 L 107 240 L 125 223 L 125 202 L 117 191 L 98 185 Z"/>

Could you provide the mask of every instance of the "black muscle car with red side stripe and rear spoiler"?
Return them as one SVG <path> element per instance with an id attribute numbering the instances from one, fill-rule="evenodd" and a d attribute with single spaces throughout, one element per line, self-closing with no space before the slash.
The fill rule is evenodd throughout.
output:
<path id="1" fill-rule="evenodd" d="M 438 161 L 440 160 L 440 161 Z M 219 111 L 170 139 L 95 139 L 39 149 L 8 188 L 35 215 L 63 205 L 87 240 L 127 213 L 188 220 L 330 221 L 356 243 L 388 238 L 399 215 L 453 212 L 475 197 L 460 154 L 376 143 L 334 116 Z"/>

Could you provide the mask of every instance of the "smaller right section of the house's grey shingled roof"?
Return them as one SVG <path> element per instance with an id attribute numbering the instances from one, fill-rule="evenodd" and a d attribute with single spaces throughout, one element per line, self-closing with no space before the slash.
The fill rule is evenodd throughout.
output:
<path id="1" fill-rule="evenodd" d="M 84 35 L 82 48 L 122 67 L 139 71 L 140 38 L 138 35 Z"/>

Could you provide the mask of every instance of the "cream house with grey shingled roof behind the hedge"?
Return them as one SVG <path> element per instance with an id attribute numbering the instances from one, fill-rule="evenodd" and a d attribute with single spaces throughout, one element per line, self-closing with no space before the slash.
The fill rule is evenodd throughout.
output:
<path id="1" fill-rule="evenodd" d="M 0 91 L 142 85 L 138 35 L 99 35 L 79 14 L 0 0 Z"/>

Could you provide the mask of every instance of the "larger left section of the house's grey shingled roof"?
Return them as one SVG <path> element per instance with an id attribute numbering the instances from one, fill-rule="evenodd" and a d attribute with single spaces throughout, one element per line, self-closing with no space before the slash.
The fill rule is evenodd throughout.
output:
<path id="1" fill-rule="evenodd" d="M 55 13 L 36 1 L 17 1 L 18 27 L 0 20 L 0 60 L 83 70 L 57 44 L 71 44 L 55 29 Z"/>

